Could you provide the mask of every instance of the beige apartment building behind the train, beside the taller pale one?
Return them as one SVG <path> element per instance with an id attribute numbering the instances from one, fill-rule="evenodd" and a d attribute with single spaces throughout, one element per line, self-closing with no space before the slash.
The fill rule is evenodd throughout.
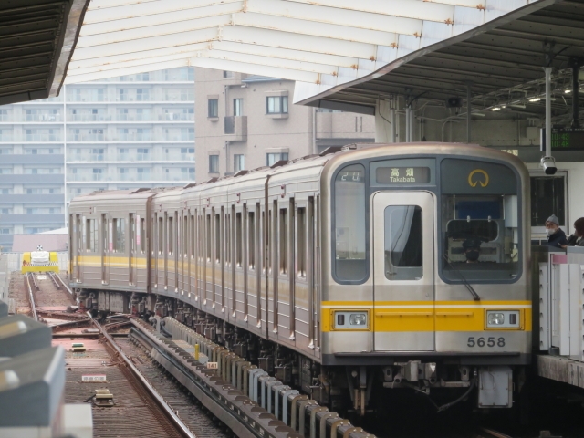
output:
<path id="1" fill-rule="evenodd" d="M 292 104 L 294 82 L 195 68 L 196 180 L 374 141 L 373 116 Z"/>

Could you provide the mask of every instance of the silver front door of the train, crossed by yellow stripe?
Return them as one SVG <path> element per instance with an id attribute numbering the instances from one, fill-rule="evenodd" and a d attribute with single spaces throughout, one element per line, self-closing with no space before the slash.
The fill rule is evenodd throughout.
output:
<path id="1" fill-rule="evenodd" d="M 435 349 L 433 204 L 428 192 L 373 197 L 375 350 Z"/>

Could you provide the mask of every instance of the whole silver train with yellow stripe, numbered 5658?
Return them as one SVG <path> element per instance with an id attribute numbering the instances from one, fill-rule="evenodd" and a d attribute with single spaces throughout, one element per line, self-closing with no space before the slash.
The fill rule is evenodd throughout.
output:
<path id="1" fill-rule="evenodd" d="M 531 360 L 528 182 L 510 154 L 424 142 L 90 193 L 69 207 L 71 287 L 336 409 L 400 388 L 509 408 Z"/>

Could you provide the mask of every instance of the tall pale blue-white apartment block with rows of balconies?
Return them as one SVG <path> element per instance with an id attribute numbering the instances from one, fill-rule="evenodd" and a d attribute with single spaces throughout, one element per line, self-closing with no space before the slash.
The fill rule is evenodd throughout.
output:
<path id="1" fill-rule="evenodd" d="M 0 107 L 0 245 L 65 226 L 81 193 L 192 183 L 193 81 L 172 68 Z"/>

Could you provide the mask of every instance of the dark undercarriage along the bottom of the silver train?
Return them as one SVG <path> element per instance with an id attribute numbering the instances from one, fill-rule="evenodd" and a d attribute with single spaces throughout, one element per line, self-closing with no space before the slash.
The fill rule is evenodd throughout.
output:
<path id="1" fill-rule="evenodd" d="M 463 401 L 473 401 L 478 408 L 511 408 L 516 403 L 514 397 L 518 400 L 526 382 L 525 367 L 464 365 L 448 357 L 403 357 L 379 365 L 323 366 L 293 349 L 235 327 L 179 299 L 87 289 L 76 292 L 79 308 L 96 315 L 126 313 L 147 321 L 175 318 L 266 370 L 277 381 L 328 406 L 332 412 L 357 417 L 379 414 L 388 391 L 420 394 L 435 412 L 443 412 Z M 165 332 L 163 326 L 161 331 Z"/>

